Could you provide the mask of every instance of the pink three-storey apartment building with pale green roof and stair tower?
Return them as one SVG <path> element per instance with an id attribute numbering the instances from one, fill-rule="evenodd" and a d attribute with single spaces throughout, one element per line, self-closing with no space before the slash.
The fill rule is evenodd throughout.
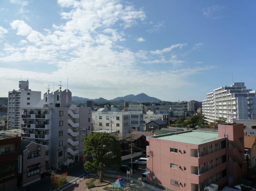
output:
<path id="1" fill-rule="evenodd" d="M 243 124 L 218 125 L 218 133 L 188 130 L 147 137 L 148 179 L 173 190 L 231 184 L 247 173 Z"/>

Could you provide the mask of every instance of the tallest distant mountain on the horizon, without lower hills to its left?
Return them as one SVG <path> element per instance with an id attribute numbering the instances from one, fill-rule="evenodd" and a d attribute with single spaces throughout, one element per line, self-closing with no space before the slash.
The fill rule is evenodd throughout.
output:
<path id="1" fill-rule="evenodd" d="M 124 97 L 117 97 L 115 99 L 112 99 L 110 101 L 119 101 L 120 99 L 123 99 L 125 101 L 129 101 L 129 102 L 162 102 L 162 100 L 154 98 L 154 97 L 150 97 L 148 95 L 146 95 L 145 93 L 140 93 L 138 95 L 126 95 Z"/>

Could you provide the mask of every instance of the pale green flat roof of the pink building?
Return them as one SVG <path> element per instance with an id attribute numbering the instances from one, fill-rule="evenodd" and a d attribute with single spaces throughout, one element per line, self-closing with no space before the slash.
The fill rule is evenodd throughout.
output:
<path id="1" fill-rule="evenodd" d="M 206 142 L 211 142 L 211 141 L 223 138 L 223 137 L 218 137 L 217 132 L 198 131 L 198 130 L 188 130 L 188 131 L 182 131 L 182 132 L 176 132 L 176 133 L 167 133 L 164 135 L 156 135 L 151 137 L 167 140 L 167 141 L 189 143 L 194 145 L 201 145 Z"/>

